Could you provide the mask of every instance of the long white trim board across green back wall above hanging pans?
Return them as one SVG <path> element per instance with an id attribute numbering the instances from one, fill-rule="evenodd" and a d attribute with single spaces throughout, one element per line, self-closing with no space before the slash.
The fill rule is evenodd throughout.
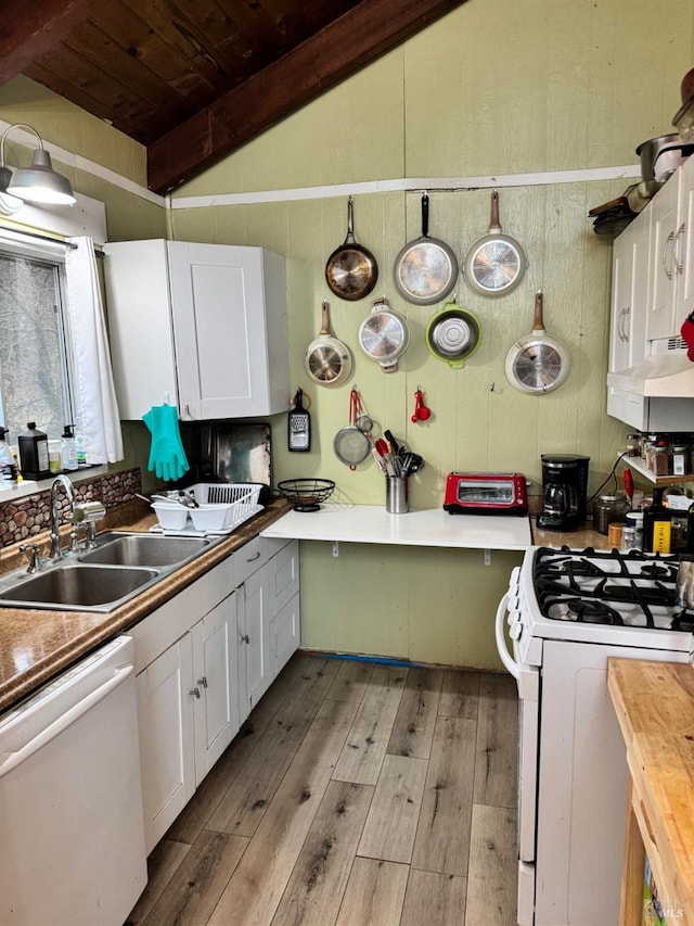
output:
<path id="1" fill-rule="evenodd" d="M 209 206 L 240 206 L 300 200 L 323 200 L 360 193 L 422 192 L 440 190 L 461 192 L 502 187 L 540 187 L 555 183 L 586 183 L 594 180 L 641 179 L 641 165 L 592 167 L 580 170 L 545 170 L 538 174 L 499 174 L 486 177 L 409 177 L 396 180 L 364 180 L 324 187 L 298 187 L 285 190 L 255 190 L 247 193 L 213 193 L 205 196 L 176 196 L 170 208 L 190 210 Z"/>

